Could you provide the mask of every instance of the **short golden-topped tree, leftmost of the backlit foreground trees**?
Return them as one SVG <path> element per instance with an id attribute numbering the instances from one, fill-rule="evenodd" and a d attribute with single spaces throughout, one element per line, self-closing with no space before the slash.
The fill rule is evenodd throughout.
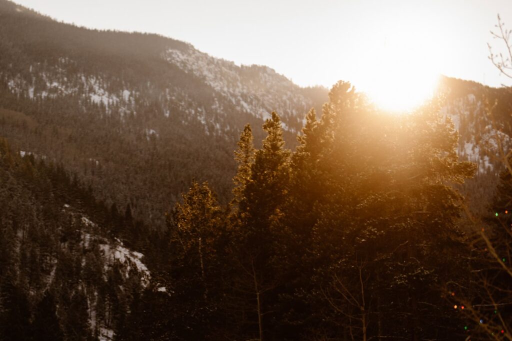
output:
<path id="1" fill-rule="evenodd" d="M 224 211 L 207 183 L 194 181 L 170 222 L 173 297 L 183 304 L 176 321 L 188 339 L 208 338 L 222 306 L 227 231 Z"/>

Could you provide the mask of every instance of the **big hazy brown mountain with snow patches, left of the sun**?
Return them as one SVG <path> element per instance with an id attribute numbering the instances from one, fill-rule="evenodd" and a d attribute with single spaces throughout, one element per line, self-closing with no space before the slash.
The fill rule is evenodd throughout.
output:
<path id="1" fill-rule="evenodd" d="M 163 225 L 193 178 L 226 200 L 246 123 L 261 141 L 277 111 L 295 144 L 327 89 L 238 66 L 155 34 L 97 31 L 0 0 L 0 131 L 63 164 L 106 203 Z"/>

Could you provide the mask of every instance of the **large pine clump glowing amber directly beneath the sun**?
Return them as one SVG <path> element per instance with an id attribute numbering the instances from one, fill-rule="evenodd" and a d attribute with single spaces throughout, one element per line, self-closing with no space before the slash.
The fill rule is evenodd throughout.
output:
<path id="1" fill-rule="evenodd" d="M 309 283 L 290 273 L 295 283 L 286 291 L 301 300 L 316 292 L 306 309 L 320 328 L 343 326 L 360 339 L 418 339 L 431 323 L 442 325 L 438 333 L 452 332 L 424 316 L 450 315 L 439 299 L 439 269 L 458 273 L 458 263 L 447 259 L 464 252 L 456 226 L 462 197 L 452 184 L 471 177 L 474 165 L 458 161 L 457 135 L 438 109 L 426 105 L 390 119 L 339 82 L 322 119 L 308 114 L 279 221 L 298 241 L 287 243 L 288 259 L 302 257 L 316 269 Z"/>

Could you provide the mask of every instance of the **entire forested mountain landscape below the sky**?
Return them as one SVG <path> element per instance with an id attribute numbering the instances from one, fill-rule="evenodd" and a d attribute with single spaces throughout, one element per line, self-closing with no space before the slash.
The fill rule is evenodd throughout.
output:
<path id="1" fill-rule="evenodd" d="M 392 116 L 6 0 L 0 51 L 0 340 L 512 340 L 509 88 Z"/>

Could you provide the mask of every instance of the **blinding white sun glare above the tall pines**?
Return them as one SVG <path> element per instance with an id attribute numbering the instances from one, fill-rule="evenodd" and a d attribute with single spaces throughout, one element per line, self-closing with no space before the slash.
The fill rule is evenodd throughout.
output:
<path id="1" fill-rule="evenodd" d="M 387 41 L 354 82 L 377 107 L 393 113 L 421 105 L 433 96 L 439 81 L 436 56 L 408 46 L 408 41 Z"/>

